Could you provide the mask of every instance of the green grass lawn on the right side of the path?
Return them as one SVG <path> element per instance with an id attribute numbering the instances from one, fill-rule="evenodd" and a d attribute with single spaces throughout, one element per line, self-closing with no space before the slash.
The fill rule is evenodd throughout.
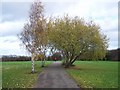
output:
<path id="1" fill-rule="evenodd" d="M 118 88 L 118 62 L 76 61 L 75 65 L 66 71 L 81 88 Z"/>

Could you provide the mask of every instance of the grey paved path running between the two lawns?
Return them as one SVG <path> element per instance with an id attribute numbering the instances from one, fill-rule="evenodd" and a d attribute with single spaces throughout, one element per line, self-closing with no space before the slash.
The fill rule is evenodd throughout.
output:
<path id="1" fill-rule="evenodd" d="M 79 88 L 61 66 L 59 61 L 46 67 L 33 88 Z"/>

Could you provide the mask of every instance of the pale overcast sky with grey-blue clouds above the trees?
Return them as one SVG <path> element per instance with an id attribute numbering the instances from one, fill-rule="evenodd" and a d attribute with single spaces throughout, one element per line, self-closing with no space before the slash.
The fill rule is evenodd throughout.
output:
<path id="1" fill-rule="evenodd" d="M 33 0 L 0 1 L 0 55 L 28 55 L 17 34 L 28 20 Z M 118 0 L 41 0 L 46 16 L 79 16 L 93 20 L 109 38 L 109 48 L 118 48 Z M 2 2 L 2 3 L 1 3 Z"/>

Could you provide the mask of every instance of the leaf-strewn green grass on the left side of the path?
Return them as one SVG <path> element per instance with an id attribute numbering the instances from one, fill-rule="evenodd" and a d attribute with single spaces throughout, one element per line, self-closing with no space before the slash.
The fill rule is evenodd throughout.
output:
<path id="1" fill-rule="evenodd" d="M 52 62 L 47 61 L 46 65 Z M 38 78 L 43 68 L 40 61 L 35 62 L 35 74 L 31 73 L 31 62 L 2 62 L 3 88 L 30 88 Z"/>

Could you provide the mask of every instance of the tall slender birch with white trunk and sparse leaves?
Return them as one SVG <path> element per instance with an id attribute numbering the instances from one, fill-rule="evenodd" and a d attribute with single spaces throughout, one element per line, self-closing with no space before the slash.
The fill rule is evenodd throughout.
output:
<path id="1" fill-rule="evenodd" d="M 39 40 L 42 37 L 42 33 L 45 27 L 43 11 L 44 8 L 42 3 L 40 1 L 34 2 L 30 8 L 29 20 L 24 25 L 23 31 L 19 35 L 19 38 L 26 47 L 27 51 L 31 53 L 32 73 L 35 72 L 35 57 L 39 52 L 41 52 L 42 48 L 42 44 Z"/>

